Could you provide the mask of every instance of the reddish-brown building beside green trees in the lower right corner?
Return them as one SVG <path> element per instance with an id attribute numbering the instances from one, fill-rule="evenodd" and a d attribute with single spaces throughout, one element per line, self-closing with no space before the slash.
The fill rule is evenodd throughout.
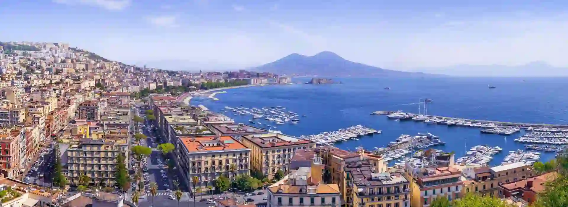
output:
<path id="1" fill-rule="evenodd" d="M 499 197 L 522 199 L 529 204 L 533 204 L 537 199 L 538 193 L 544 191 L 545 183 L 558 176 L 557 172 L 548 172 L 532 178 L 511 181 L 499 184 Z"/>

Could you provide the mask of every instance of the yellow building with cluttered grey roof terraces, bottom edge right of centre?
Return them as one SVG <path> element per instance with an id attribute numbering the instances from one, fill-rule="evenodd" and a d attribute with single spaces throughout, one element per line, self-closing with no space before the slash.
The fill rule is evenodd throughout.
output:
<path id="1" fill-rule="evenodd" d="M 410 206 L 410 182 L 399 172 L 376 172 L 369 160 L 349 162 L 345 167 L 345 206 Z"/>

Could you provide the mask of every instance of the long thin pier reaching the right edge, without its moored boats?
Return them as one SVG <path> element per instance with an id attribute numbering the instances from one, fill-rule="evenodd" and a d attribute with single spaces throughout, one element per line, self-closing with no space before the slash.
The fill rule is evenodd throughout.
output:
<path id="1" fill-rule="evenodd" d="M 394 111 L 377 111 L 373 112 L 374 115 L 391 115 Z M 406 113 L 409 116 L 418 116 L 416 113 Z M 519 122 L 506 122 L 506 121 L 488 121 L 488 120 L 476 120 L 476 119 L 462 119 L 462 118 L 455 118 L 455 117 L 445 117 L 445 116 L 435 116 L 435 115 L 423 115 L 428 117 L 433 117 L 437 119 L 446 119 L 446 120 L 461 120 L 461 121 L 470 121 L 470 122 L 478 122 L 481 124 L 496 124 L 500 126 L 516 126 L 521 128 L 528 128 L 528 127 L 544 127 L 544 128 L 558 128 L 558 129 L 568 129 L 568 125 L 565 124 L 534 124 L 534 123 L 519 123 Z"/>

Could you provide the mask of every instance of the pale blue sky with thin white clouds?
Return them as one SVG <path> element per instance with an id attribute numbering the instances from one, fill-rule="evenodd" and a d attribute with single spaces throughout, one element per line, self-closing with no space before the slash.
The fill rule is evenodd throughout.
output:
<path id="1" fill-rule="evenodd" d="M 387 69 L 568 66 L 568 1 L 0 0 L 0 41 L 149 66 L 239 69 L 327 50 Z M 177 68 L 176 68 L 177 69 Z"/>

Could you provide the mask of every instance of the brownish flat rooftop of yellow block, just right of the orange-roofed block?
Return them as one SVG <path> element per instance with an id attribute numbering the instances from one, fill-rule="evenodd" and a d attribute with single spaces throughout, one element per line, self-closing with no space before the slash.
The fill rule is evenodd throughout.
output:
<path id="1" fill-rule="evenodd" d="M 250 134 L 243 136 L 243 138 L 249 140 L 250 142 L 253 142 L 255 145 L 261 148 L 315 143 L 314 141 L 300 140 L 298 138 L 290 137 L 281 133 Z"/>

